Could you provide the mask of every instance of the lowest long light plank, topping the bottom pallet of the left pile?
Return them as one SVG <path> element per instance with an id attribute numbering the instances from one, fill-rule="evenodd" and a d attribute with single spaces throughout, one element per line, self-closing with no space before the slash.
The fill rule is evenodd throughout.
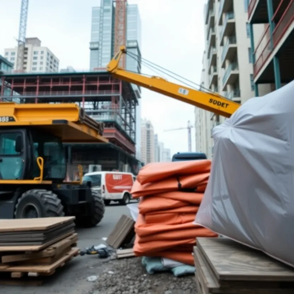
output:
<path id="1" fill-rule="evenodd" d="M 22 273 L 52 273 L 56 268 L 62 267 L 66 261 L 71 260 L 74 256 L 80 252 L 79 248 L 72 248 L 69 253 L 66 253 L 59 260 L 52 263 L 51 265 L 5 265 L 3 268 L 0 267 L 0 271 L 3 272 L 22 272 Z"/>

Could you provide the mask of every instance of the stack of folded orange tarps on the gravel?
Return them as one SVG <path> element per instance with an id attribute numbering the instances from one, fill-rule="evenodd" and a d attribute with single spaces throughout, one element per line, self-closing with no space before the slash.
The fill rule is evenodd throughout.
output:
<path id="1" fill-rule="evenodd" d="M 131 194 L 141 198 L 136 220 L 136 256 L 158 256 L 194 265 L 196 237 L 216 237 L 193 224 L 211 168 L 210 160 L 150 163 Z"/>

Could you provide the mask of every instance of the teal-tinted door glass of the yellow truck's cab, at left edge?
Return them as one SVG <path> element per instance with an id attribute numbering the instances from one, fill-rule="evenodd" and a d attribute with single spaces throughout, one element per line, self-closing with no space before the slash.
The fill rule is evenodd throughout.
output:
<path id="1" fill-rule="evenodd" d="M 21 178 L 23 158 L 16 150 L 16 141 L 22 141 L 21 133 L 1 133 L 0 135 L 0 179 L 16 180 Z"/>

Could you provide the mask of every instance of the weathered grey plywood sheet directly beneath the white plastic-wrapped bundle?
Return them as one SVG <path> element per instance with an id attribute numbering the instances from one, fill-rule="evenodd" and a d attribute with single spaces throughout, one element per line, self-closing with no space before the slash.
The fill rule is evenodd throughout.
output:
<path id="1" fill-rule="evenodd" d="M 289 281 L 294 270 L 228 238 L 197 238 L 197 248 L 218 280 Z"/>

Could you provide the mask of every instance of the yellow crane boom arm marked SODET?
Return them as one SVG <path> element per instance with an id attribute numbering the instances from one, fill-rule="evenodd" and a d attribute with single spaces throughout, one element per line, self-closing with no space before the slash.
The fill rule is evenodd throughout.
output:
<path id="1" fill-rule="evenodd" d="M 115 78 L 142 86 L 151 91 L 175 98 L 224 117 L 230 117 L 240 107 L 240 104 L 215 93 L 198 91 L 171 83 L 157 76 L 149 77 L 121 69 L 118 67 L 118 64 L 123 54 L 126 54 L 125 46 L 121 46 L 120 51 L 106 66 L 107 71 Z"/>

